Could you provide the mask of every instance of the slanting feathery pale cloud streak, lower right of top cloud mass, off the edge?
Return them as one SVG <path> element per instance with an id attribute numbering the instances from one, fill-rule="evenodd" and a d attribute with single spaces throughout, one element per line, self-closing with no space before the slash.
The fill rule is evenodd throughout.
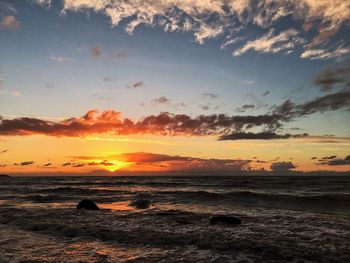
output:
<path id="1" fill-rule="evenodd" d="M 298 31 L 288 29 L 279 34 L 271 29 L 265 35 L 255 40 L 248 41 L 243 47 L 233 52 L 234 56 L 241 56 L 249 50 L 262 53 L 278 53 L 281 51 L 292 51 L 296 45 L 302 44 L 304 40 L 299 37 Z"/>

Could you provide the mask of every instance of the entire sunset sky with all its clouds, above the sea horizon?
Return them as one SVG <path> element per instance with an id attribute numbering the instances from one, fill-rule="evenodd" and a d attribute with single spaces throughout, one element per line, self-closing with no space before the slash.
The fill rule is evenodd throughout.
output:
<path id="1" fill-rule="evenodd" d="M 0 173 L 321 171 L 350 172 L 350 1 L 0 1 Z"/>

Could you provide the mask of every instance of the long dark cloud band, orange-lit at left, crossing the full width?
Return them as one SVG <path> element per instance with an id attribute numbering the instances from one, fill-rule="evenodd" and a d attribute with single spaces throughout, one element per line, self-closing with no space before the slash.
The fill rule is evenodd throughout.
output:
<path id="1" fill-rule="evenodd" d="M 167 101 L 167 98 L 158 102 L 161 101 Z M 276 137 L 277 135 L 271 135 L 271 133 L 275 133 L 283 128 L 286 123 L 295 119 L 313 113 L 340 109 L 350 109 L 350 91 L 328 94 L 302 104 L 287 100 L 283 104 L 275 106 L 271 112 L 262 115 L 229 116 L 227 114 L 211 114 L 192 117 L 186 114 L 162 112 L 158 115 L 150 115 L 138 121 L 132 121 L 122 118 L 120 112 L 113 110 L 104 111 L 101 114 L 98 114 L 97 110 L 90 110 L 82 117 L 70 118 L 61 122 L 28 117 L 15 119 L 2 119 L 0 117 L 0 135 L 43 134 L 83 137 L 91 134 L 114 132 L 117 135 L 217 135 L 225 138 L 222 136 L 235 137 L 238 135 L 232 134 L 248 133 L 251 128 L 260 128 L 263 131 L 260 132 L 261 134 L 269 132 L 270 134 L 267 134 L 267 137 Z"/>

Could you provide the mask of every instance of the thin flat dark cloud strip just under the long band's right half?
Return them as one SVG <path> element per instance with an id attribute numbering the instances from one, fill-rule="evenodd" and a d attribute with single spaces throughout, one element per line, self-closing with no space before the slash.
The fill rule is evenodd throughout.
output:
<path id="1" fill-rule="evenodd" d="M 219 137 L 220 141 L 224 140 L 273 140 L 273 139 L 289 139 L 289 138 L 304 138 L 308 134 L 277 134 L 275 132 L 237 132 Z"/>

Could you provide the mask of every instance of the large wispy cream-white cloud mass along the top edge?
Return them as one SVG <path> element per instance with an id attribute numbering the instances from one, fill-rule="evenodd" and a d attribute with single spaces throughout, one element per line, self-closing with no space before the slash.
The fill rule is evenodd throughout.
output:
<path id="1" fill-rule="evenodd" d="M 186 32 L 199 44 L 220 37 L 224 42 L 221 46 L 232 47 L 238 56 L 248 50 L 265 53 L 292 52 L 297 48 L 317 50 L 330 40 L 346 43 L 348 39 L 338 32 L 349 21 L 350 4 L 344 0 L 63 0 L 62 11 L 104 14 L 112 26 L 124 27 L 129 34 L 138 26 L 147 25 L 165 32 Z M 295 28 L 283 29 L 286 26 L 283 18 L 294 20 Z M 263 33 L 252 40 L 251 28 Z M 271 28 L 282 31 L 275 33 Z M 311 28 L 319 29 L 316 37 L 307 34 Z M 303 32 L 304 40 L 296 32 Z M 237 42 L 243 41 L 243 46 L 237 49 Z M 310 54 L 309 51 L 303 57 L 315 57 Z M 322 58 L 334 56 L 321 54 Z"/>

